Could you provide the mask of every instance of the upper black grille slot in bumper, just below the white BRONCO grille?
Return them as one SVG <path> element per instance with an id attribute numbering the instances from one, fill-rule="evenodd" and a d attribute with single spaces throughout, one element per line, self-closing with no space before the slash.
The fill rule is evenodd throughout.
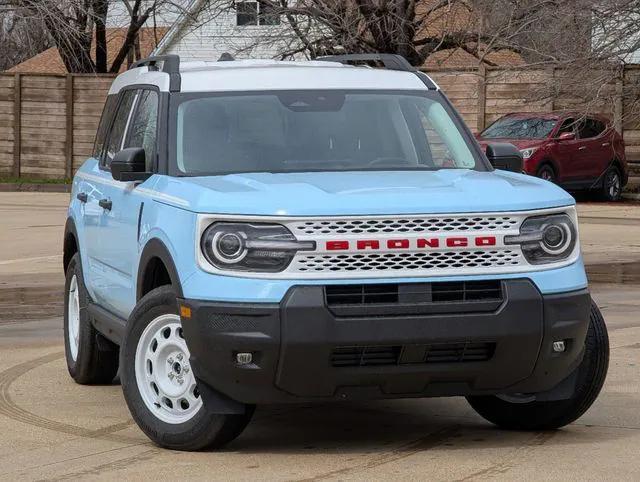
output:
<path id="1" fill-rule="evenodd" d="M 327 285 L 327 306 L 501 301 L 500 280 Z"/>

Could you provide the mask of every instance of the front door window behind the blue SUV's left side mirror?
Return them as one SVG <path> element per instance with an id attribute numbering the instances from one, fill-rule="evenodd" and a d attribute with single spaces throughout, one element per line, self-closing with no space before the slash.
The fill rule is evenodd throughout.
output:
<path id="1" fill-rule="evenodd" d="M 145 152 L 147 171 L 151 171 L 158 130 L 158 93 L 156 91 L 141 91 L 130 125 L 129 138 L 125 147 L 142 147 Z"/>

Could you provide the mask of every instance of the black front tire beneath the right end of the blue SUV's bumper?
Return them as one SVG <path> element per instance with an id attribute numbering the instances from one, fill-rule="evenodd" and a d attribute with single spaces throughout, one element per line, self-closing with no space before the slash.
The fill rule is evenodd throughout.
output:
<path id="1" fill-rule="evenodd" d="M 549 402 L 507 401 L 497 396 L 467 397 L 480 416 L 508 430 L 551 430 L 580 418 L 598 397 L 609 367 L 607 327 L 596 304 L 591 316 L 585 354 L 578 367 L 576 390 L 568 400 Z"/>

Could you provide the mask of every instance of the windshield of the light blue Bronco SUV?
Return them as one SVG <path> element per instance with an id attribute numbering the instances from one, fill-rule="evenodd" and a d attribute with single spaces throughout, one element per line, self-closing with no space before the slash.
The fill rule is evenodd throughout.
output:
<path id="1" fill-rule="evenodd" d="M 177 172 L 482 169 L 438 97 L 277 91 L 177 94 Z"/>

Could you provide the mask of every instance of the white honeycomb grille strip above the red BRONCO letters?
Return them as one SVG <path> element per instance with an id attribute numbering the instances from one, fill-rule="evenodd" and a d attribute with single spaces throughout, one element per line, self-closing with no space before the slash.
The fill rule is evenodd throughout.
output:
<path id="1" fill-rule="evenodd" d="M 501 231 L 519 223 L 515 216 L 443 216 L 376 219 L 308 220 L 290 223 L 293 234 L 388 234 L 437 231 Z"/>

